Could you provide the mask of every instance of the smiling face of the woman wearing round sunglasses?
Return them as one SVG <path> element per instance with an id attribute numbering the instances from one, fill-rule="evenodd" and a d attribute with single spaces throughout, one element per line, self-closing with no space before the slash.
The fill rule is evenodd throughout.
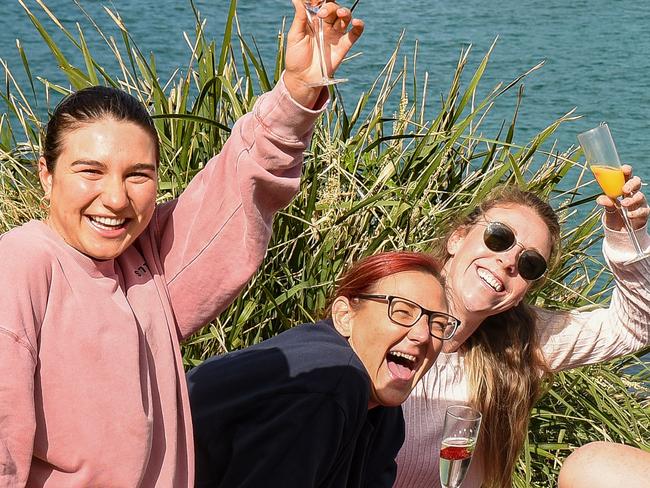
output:
<path id="1" fill-rule="evenodd" d="M 454 313 L 466 322 L 468 316 L 482 321 L 509 310 L 524 298 L 532 282 L 522 278 L 517 269 L 522 246 L 538 251 L 547 262 L 551 254 L 548 227 L 529 207 L 494 207 L 484 217 L 484 221 L 510 227 L 521 246 L 505 252 L 491 251 L 483 242 L 485 225 L 480 223 L 452 234 L 447 243 L 451 258 L 445 264 L 445 276 Z"/>

